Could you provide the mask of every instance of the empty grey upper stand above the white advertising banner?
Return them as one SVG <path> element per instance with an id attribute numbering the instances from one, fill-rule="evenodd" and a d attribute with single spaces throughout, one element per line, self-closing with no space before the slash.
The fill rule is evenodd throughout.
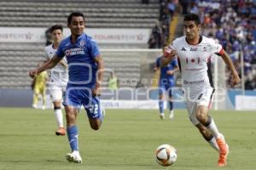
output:
<path id="1" fill-rule="evenodd" d="M 148 5 L 124 1 L 6 1 L 0 2 L 1 26 L 48 27 L 67 25 L 67 15 L 80 11 L 92 28 L 151 28 L 159 17 L 158 0 Z"/>

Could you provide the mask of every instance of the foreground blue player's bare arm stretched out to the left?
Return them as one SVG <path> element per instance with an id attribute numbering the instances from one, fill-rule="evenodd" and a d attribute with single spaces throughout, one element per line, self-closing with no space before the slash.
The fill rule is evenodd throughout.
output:
<path id="1" fill-rule="evenodd" d="M 58 64 L 58 62 L 60 62 L 60 60 L 61 60 L 61 58 L 55 54 L 53 58 L 46 61 L 43 65 L 39 66 L 36 69 L 29 71 L 29 76 L 33 78 L 33 77 L 37 76 L 40 72 L 52 69 L 53 67 L 55 67 L 55 65 Z"/>

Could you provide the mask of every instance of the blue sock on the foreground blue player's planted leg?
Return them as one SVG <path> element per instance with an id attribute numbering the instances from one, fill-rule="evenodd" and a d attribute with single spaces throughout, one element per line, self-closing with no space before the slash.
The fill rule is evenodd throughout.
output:
<path id="1" fill-rule="evenodd" d="M 79 130 L 76 125 L 67 127 L 67 137 L 71 150 L 79 150 Z"/>

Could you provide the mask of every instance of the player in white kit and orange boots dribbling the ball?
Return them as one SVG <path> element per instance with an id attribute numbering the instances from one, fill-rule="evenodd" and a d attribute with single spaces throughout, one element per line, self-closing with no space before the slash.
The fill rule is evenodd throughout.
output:
<path id="1" fill-rule="evenodd" d="M 214 92 L 211 76 L 211 57 L 218 54 L 232 73 L 232 83 L 240 82 L 230 56 L 213 39 L 200 35 L 201 23 L 197 14 L 187 14 L 183 20 L 184 37 L 172 42 L 161 58 L 161 65 L 167 65 L 177 57 L 183 78 L 183 92 L 190 121 L 197 127 L 204 139 L 219 152 L 218 166 L 227 162 L 229 146 L 224 135 L 208 115 L 209 105 Z"/>

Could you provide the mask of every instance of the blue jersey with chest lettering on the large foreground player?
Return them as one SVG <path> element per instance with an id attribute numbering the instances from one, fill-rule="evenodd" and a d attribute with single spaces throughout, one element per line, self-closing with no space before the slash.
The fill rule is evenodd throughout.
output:
<path id="1" fill-rule="evenodd" d="M 63 39 L 55 53 L 58 57 L 67 57 L 68 87 L 93 88 L 96 83 L 97 64 L 95 58 L 100 55 L 96 42 L 86 34 L 73 43 L 71 36 Z"/>

